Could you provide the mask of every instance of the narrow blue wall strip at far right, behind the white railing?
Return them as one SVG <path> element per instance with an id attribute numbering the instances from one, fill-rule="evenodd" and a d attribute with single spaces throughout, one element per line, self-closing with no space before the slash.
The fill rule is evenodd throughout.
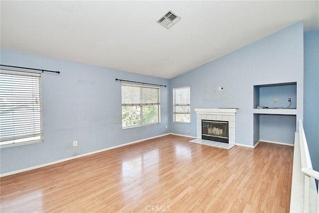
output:
<path id="1" fill-rule="evenodd" d="M 304 129 L 313 167 L 319 171 L 319 30 L 305 32 Z"/>

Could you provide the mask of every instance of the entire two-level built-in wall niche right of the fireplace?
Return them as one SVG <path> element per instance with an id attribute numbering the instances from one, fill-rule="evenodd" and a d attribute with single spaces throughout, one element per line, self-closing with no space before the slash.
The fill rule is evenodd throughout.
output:
<path id="1" fill-rule="evenodd" d="M 291 98 L 291 105 L 288 98 Z M 258 109 L 257 106 L 268 108 Z M 254 85 L 253 116 L 254 144 L 259 140 L 294 144 L 297 82 Z"/>

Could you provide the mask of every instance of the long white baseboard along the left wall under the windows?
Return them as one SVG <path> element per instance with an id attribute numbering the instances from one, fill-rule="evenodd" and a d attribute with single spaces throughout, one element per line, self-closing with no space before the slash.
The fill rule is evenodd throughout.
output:
<path id="1" fill-rule="evenodd" d="M 38 168 L 41 168 L 41 167 L 46 167 L 46 166 L 50 166 L 50 165 L 53 165 L 53 164 L 58 164 L 58 163 L 61 163 L 61 162 L 64 162 L 64 161 L 69 161 L 69 160 L 73 160 L 73 159 L 76 159 L 76 158 L 81 158 L 81 157 L 84 157 L 84 156 L 93 155 L 93 154 L 96 154 L 96 153 L 99 153 L 99 152 L 104 152 L 104 151 L 107 151 L 107 150 L 111 150 L 111 149 L 115 149 L 115 148 L 119 148 L 119 147 L 124 147 L 124 146 L 130 145 L 130 144 L 139 143 L 139 142 L 150 140 L 150 139 L 153 139 L 153 138 L 159 138 L 159 137 L 162 137 L 162 136 L 165 136 L 165 135 L 169 135 L 169 134 L 171 134 L 171 133 L 166 133 L 166 134 L 163 134 L 163 135 L 158 135 L 158 136 L 154 136 L 154 137 L 150 137 L 150 138 L 146 138 L 146 139 L 142 139 L 142 140 L 138 140 L 138 141 L 133 141 L 133 142 L 129 142 L 129 143 L 126 143 L 126 144 L 121 144 L 121 145 L 118 145 L 118 146 L 109 147 L 109 148 L 106 148 L 106 149 L 101 149 L 101 150 L 97 150 L 97 151 L 94 151 L 94 152 L 89 152 L 89 153 L 85 153 L 85 154 L 82 154 L 82 155 L 77 155 L 77 156 L 73 156 L 73 157 L 70 157 L 70 158 L 65 158 L 65 159 L 61 159 L 61 160 L 50 162 L 50 163 L 46 163 L 46 164 L 41 164 L 41 165 L 34 166 L 34 167 L 29 167 L 29 168 L 25 168 L 25 169 L 21 169 L 21 170 L 16 170 L 16 171 L 13 171 L 13 172 L 3 173 L 3 174 L 0 174 L 0 177 L 4 177 L 4 176 L 8 176 L 8 175 L 14 175 L 14 174 L 17 174 L 17 173 L 38 169 Z"/>

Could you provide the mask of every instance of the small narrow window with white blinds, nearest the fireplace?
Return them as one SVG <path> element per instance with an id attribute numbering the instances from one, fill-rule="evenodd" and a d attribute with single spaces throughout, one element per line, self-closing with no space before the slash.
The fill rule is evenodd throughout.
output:
<path id="1" fill-rule="evenodd" d="M 173 122 L 190 123 L 190 87 L 173 88 Z"/>

